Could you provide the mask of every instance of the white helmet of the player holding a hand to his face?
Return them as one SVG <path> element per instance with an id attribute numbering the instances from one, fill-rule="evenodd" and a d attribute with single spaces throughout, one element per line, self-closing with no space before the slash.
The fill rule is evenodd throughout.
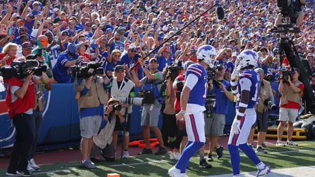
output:
<path id="1" fill-rule="evenodd" d="M 247 66 L 253 66 L 254 68 L 257 67 L 259 55 L 253 50 L 244 50 L 238 55 L 238 59 L 236 64 L 238 65 L 237 68 L 244 68 Z"/>

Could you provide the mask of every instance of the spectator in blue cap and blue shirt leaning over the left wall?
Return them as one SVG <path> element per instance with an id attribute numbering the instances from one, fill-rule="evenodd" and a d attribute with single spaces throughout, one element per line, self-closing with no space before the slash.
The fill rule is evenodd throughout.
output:
<path id="1" fill-rule="evenodd" d="M 57 63 L 53 66 L 53 79 L 58 83 L 70 83 L 71 70 L 69 67 L 75 64 L 81 64 L 81 62 L 84 62 L 84 56 L 77 54 L 77 46 L 75 43 L 68 44 L 67 50 L 60 53 Z"/>

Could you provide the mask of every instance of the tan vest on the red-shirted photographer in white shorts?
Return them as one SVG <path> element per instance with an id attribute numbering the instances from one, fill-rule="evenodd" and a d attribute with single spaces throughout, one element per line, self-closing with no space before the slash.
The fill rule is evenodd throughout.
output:
<path id="1" fill-rule="evenodd" d="M 296 83 L 293 83 L 296 87 L 299 87 L 301 84 L 300 81 L 297 81 Z M 303 92 L 303 90 L 301 90 Z M 301 100 L 301 94 L 300 93 L 295 93 L 290 85 L 283 83 L 283 93 L 280 98 L 280 106 L 281 105 L 286 105 L 288 101 L 292 101 L 294 103 L 297 103 L 300 105 L 300 100 Z"/>

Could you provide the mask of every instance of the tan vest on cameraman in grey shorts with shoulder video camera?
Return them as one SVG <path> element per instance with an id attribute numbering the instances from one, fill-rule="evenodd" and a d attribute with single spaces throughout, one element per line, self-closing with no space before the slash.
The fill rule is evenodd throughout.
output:
<path id="1" fill-rule="evenodd" d="M 77 79 L 75 79 L 77 80 Z M 75 81 L 75 91 L 81 92 L 84 90 L 84 87 L 86 87 L 86 80 L 83 79 L 79 87 L 76 88 Z M 90 89 L 88 90 L 88 93 L 80 96 L 79 99 L 77 99 L 77 104 L 79 106 L 79 111 L 81 108 L 91 108 L 91 107 L 99 107 L 99 104 L 106 105 L 108 102 L 107 94 L 105 92 L 105 89 L 103 87 L 103 78 L 97 77 L 96 81 L 92 79 Z M 99 100 L 99 101 L 97 101 Z"/>

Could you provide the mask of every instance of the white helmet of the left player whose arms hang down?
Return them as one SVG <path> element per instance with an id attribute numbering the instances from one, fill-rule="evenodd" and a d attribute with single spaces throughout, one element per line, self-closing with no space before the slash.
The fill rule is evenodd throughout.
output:
<path id="1" fill-rule="evenodd" d="M 197 59 L 205 62 L 207 65 L 210 66 L 210 68 L 214 67 L 214 60 L 216 55 L 218 54 L 216 53 L 216 49 L 212 45 L 205 44 L 199 46 L 197 50 Z"/>

